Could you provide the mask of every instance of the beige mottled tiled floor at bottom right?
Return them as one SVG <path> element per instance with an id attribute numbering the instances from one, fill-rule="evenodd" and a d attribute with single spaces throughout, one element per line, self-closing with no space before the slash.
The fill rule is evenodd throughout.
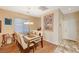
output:
<path id="1" fill-rule="evenodd" d="M 55 49 L 55 53 L 79 53 L 79 42 L 69 39 L 63 39 L 60 45 Z"/>

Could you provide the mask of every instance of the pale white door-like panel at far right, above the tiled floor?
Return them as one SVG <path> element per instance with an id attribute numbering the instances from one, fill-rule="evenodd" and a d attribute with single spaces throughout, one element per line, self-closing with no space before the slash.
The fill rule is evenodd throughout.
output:
<path id="1" fill-rule="evenodd" d="M 63 39 L 76 40 L 77 38 L 77 28 L 76 20 L 73 15 L 65 15 L 62 27 Z"/>

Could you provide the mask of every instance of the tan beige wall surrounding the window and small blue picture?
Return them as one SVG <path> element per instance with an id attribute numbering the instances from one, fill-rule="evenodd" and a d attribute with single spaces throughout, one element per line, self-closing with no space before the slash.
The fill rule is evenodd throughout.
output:
<path id="1" fill-rule="evenodd" d="M 7 33 L 7 32 L 12 33 L 12 32 L 14 32 L 14 24 L 13 24 L 14 22 L 12 22 L 12 25 L 6 26 L 6 29 L 4 28 L 4 18 L 5 17 L 12 18 L 13 21 L 14 21 L 15 18 L 22 18 L 22 19 L 28 19 L 30 21 L 33 21 L 34 25 L 30 26 L 30 28 L 32 30 L 36 29 L 40 26 L 40 18 L 27 16 L 27 15 L 24 15 L 24 14 L 0 9 L 0 20 L 2 21 L 2 33 Z"/>

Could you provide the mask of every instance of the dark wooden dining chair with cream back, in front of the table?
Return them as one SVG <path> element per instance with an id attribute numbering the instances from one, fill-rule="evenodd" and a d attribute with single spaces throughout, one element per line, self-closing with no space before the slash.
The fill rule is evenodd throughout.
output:
<path id="1" fill-rule="evenodd" d="M 34 52 L 34 42 L 25 41 L 23 35 L 20 33 L 15 33 L 13 36 L 21 52 L 30 52 L 30 48 Z"/>

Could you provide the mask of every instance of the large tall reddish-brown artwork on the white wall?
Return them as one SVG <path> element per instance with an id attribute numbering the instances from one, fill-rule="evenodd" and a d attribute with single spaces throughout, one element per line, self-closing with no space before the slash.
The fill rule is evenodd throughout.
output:
<path id="1" fill-rule="evenodd" d="M 53 31 L 53 20 L 54 14 L 48 14 L 44 16 L 44 29 L 48 31 Z"/>

